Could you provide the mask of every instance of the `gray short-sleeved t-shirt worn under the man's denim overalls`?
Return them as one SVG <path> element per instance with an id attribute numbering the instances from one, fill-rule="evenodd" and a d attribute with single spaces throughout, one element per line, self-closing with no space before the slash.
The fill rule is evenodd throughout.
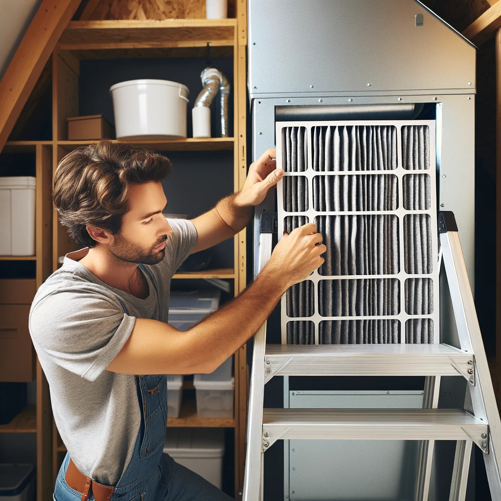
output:
<path id="1" fill-rule="evenodd" d="M 88 252 L 82 249 L 65 257 L 38 290 L 30 311 L 30 333 L 61 438 L 80 471 L 99 483 L 116 485 L 131 460 L 141 423 L 135 376 L 105 369 L 136 318 L 167 322 L 171 278 L 196 243 L 193 223 L 169 223 L 164 259 L 145 265 L 156 286 L 144 274 L 146 299 L 98 280 L 77 262 Z"/>

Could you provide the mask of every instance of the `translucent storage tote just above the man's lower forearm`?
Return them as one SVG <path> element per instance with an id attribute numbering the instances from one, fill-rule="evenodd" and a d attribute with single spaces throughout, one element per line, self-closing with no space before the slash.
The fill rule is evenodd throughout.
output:
<path id="1" fill-rule="evenodd" d="M 205 315 L 217 309 L 221 291 L 171 292 L 169 301 L 169 324 L 186 331 L 202 320 Z"/>

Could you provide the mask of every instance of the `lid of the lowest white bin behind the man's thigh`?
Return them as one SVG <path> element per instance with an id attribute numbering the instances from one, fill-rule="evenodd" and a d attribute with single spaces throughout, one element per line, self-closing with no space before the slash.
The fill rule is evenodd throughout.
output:
<path id="1" fill-rule="evenodd" d="M 174 457 L 222 457 L 222 428 L 170 428 L 163 451 Z"/>

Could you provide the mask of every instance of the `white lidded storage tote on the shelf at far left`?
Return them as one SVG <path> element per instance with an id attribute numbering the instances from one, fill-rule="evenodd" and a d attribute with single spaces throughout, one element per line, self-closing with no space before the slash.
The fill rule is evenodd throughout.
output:
<path id="1" fill-rule="evenodd" d="M 31 176 L 0 177 L 0 256 L 35 255 L 35 187 Z"/>

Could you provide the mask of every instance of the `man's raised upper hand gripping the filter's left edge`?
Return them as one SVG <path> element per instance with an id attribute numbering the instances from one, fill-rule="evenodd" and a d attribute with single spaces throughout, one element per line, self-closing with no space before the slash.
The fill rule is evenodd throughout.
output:
<path id="1" fill-rule="evenodd" d="M 259 205 L 268 191 L 284 176 L 283 169 L 277 169 L 277 150 L 266 150 L 254 163 L 250 164 L 247 179 L 241 191 L 235 197 L 235 203 L 241 207 Z"/>

